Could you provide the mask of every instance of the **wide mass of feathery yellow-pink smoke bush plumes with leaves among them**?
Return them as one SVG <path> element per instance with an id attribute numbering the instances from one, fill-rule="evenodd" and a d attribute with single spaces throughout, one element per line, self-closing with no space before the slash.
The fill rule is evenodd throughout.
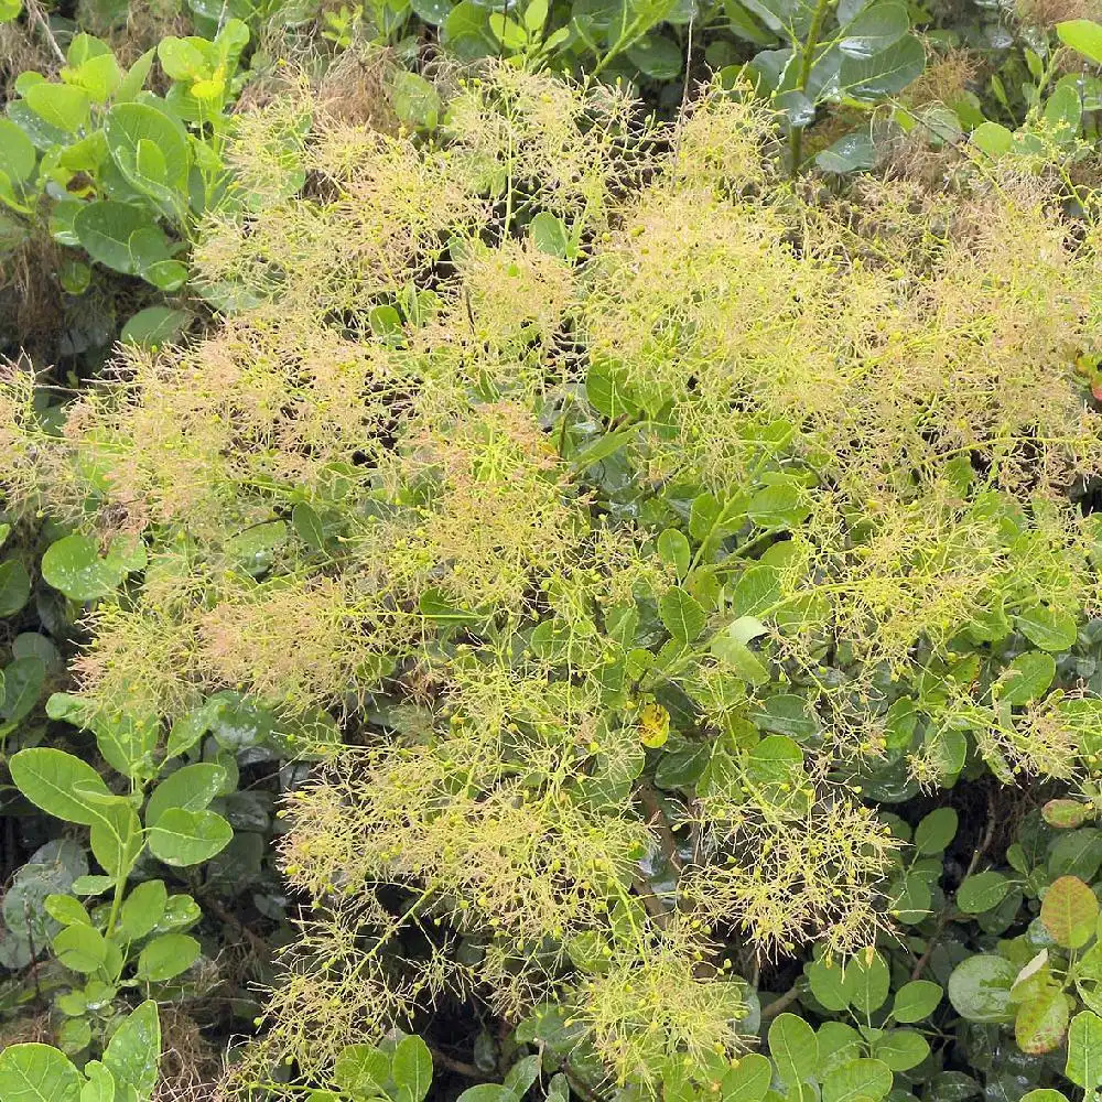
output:
<path id="1" fill-rule="evenodd" d="M 60 432 L 9 372 L 0 479 L 147 545 L 88 609 L 93 713 L 231 689 L 324 758 L 235 1083 L 332 1084 L 451 993 L 670 1092 L 750 1042 L 756 961 L 921 921 L 875 803 L 1098 773 L 1052 656 L 1099 607 L 1100 226 L 964 156 L 792 184 L 737 95 L 442 91 L 432 141 L 244 117 L 230 161 L 305 185 L 208 222 L 240 309 Z"/>

